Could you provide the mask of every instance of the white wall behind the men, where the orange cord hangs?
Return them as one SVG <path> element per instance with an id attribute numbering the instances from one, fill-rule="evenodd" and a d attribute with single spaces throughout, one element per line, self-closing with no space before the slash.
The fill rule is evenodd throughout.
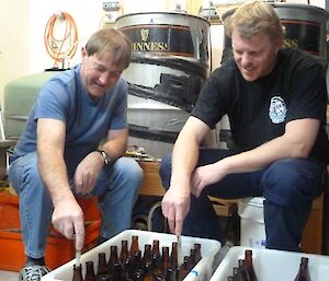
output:
<path id="1" fill-rule="evenodd" d="M 120 0 L 125 13 L 173 10 L 177 3 L 186 8 L 186 0 Z M 232 2 L 231 0 L 227 0 Z M 223 0 L 223 2 L 225 2 Z M 307 3 L 307 0 L 287 2 Z M 324 8 L 325 0 L 310 0 Z M 4 85 L 19 77 L 52 68 L 54 61 L 46 52 L 44 32 L 54 13 L 68 12 L 76 21 L 80 44 L 72 65 L 80 61 L 81 42 L 101 25 L 103 0 L 0 0 L 0 99 Z M 222 54 L 223 28 L 212 28 L 215 56 L 213 68 Z"/>

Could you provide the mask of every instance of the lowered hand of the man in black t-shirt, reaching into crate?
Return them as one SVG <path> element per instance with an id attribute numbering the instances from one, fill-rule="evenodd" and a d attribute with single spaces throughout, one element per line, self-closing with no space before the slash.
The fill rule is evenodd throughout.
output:
<path id="1" fill-rule="evenodd" d="M 170 187 L 162 199 L 162 213 L 168 219 L 169 229 L 181 234 L 184 219 L 190 210 L 190 191 Z"/>

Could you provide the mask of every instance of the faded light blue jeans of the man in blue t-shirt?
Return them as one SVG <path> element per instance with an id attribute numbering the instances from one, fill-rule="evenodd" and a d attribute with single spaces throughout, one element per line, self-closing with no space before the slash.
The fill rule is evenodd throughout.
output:
<path id="1" fill-rule="evenodd" d="M 36 153 L 16 159 L 9 168 L 9 179 L 20 196 L 20 216 L 25 254 L 41 258 L 45 254 L 52 223 L 53 202 L 37 168 Z M 92 191 L 102 209 L 101 236 L 110 238 L 132 226 L 132 211 L 137 200 L 143 171 L 128 157 L 104 165 Z"/>

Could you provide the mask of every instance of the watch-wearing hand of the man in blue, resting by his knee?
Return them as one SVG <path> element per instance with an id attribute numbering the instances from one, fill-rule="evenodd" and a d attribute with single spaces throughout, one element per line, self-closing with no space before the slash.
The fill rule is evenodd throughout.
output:
<path id="1" fill-rule="evenodd" d="M 75 174 L 76 194 L 87 195 L 94 188 L 98 177 L 104 165 L 101 153 L 93 151 L 89 153 L 78 165 Z"/>

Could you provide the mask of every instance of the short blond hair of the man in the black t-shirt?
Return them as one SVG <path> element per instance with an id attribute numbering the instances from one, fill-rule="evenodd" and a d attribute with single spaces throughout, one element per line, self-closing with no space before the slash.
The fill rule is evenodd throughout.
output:
<path id="1" fill-rule="evenodd" d="M 270 38 L 283 38 L 284 28 L 274 8 L 262 1 L 247 2 L 238 7 L 224 21 L 225 33 L 231 36 L 237 31 L 242 38 L 249 39 L 256 35 L 269 35 Z"/>

